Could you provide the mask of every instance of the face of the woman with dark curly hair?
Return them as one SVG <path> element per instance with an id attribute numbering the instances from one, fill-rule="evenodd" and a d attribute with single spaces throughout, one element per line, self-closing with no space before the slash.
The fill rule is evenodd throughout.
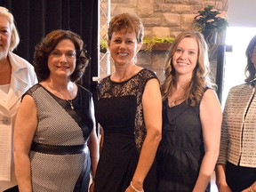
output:
<path id="1" fill-rule="evenodd" d="M 48 56 L 48 68 L 51 76 L 69 78 L 76 68 L 76 48 L 69 39 L 56 45 Z"/>

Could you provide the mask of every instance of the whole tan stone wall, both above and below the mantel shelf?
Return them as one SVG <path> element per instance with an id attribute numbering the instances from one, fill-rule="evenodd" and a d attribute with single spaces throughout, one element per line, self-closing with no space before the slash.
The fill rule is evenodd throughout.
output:
<path id="1" fill-rule="evenodd" d="M 122 12 L 134 13 L 140 17 L 144 24 L 145 36 L 175 37 L 180 32 L 193 28 L 194 17 L 204 6 L 217 5 L 219 10 L 227 11 L 227 2 L 228 0 L 111 0 L 111 17 Z M 107 10 L 107 0 L 103 0 L 100 6 L 103 10 Z M 100 18 L 102 25 L 106 20 L 104 17 Z M 106 36 L 107 26 L 105 28 L 105 30 L 100 31 L 101 36 Z M 137 64 L 154 70 L 162 81 L 167 53 L 140 52 Z M 216 73 L 216 66 L 215 57 L 211 60 L 213 74 Z"/>

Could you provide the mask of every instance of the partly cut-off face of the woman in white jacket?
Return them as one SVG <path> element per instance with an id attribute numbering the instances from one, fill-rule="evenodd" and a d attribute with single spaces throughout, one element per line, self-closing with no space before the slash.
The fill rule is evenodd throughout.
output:
<path id="1" fill-rule="evenodd" d="M 11 26 L 8 20 L 0 15 L 0 60 L 7 57 L 12 38 Z"/>

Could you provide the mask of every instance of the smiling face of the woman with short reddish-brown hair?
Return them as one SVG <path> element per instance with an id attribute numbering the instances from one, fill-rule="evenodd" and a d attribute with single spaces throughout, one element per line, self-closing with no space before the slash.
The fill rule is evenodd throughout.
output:
<path id="1" fill-rule="evenodd" d="M 110 55 L 117 66 L 134 64 L 140 47 L 141 44 L 138 44 L 135 32 L 129 33 L 125 29 L 114 32 L 111 40 L 108 41 Z"/>

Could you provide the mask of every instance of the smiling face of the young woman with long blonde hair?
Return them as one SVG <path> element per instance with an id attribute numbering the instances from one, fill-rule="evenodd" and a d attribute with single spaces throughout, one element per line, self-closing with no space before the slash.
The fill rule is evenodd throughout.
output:
<path id="1" fill-rule="evenodd" d="M 198 44 L 195 38 L 185 37 L 178 44 L 172 56 L 176 76 L 191 78 L 198 59 Z"/>

